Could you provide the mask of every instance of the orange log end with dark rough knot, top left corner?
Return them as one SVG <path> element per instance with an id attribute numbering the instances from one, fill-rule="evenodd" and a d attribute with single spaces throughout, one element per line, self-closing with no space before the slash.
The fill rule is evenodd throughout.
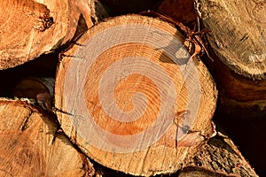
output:
<path id="1" fill-rule="evenodd" d="M 83 0 L 43 4 L 34 0 L 1 1 L 0 70 L 50 53 L 83 33 L 93 25 L 90 6 Z M 86 23 L 78 31 L 78 21 L 82 19 Z M 80 34 L 75 34 L 76 31 Z"/>

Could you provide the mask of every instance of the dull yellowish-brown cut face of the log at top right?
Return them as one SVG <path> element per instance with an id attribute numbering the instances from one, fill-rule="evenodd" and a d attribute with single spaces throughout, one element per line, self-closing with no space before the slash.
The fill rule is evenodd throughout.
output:
<path id="1" fill-rule="evenodd" d="M 232 71 L 252 80 L 266 78 L 265 10 L 265 1 L 200 2 L 215 55 Z"/>

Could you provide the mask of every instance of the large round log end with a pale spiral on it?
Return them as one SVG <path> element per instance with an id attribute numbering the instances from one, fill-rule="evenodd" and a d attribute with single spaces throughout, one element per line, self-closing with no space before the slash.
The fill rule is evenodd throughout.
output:
<path id="1" fill-rule="evenodd" d="M 214 135 L 217 96 L 184 39 L 168 22 L 141 15 L 90 28 L 58 66 L 55 109 L 65 134 L 117 171 L 180 169 L 191 150 Z"/>

